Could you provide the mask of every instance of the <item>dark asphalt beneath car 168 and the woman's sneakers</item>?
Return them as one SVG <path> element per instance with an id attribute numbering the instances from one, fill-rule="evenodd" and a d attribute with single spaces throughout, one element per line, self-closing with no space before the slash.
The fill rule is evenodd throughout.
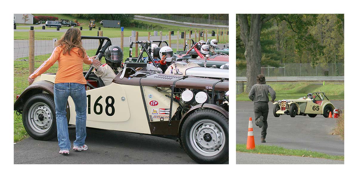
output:
<path id="1" fill-rule="evenodd" d="M 69 136 L 73 144 L 74 129 Z M 57 138 L 40 141 L 30 137 L 14 144 L 14 164 L 197 164 L 179 142 L 150 135 L 87 128 L 86 144 L 86 151 L 70 150 L 69 155 L 62 155 Z"/>

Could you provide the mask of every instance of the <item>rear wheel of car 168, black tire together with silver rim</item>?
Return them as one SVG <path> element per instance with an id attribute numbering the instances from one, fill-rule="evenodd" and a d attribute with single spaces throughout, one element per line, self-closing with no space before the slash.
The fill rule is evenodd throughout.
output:
<path id="1" fill-rule="evenodd" d="M 42 105 L 42 107 L 37 107 L 38 104 Z M 37 107 L 37 108 L 36 108 Z M 32 109 L 36 108 L 36 109 Z M 38 109 L 41 108 L 41 109 Z M 33 110 L 34 112 L 30 111 Z M 47 114 L 46 111 L 50 110 L 49 114 Z M 29 114 L 29 112 L 32 112 L 33 114 Z M 45 113 L 41 113 L 45 112 Z M 25 127 L 26 132 L 34 139 L 36 140 L 51 140 L 55 137 L 57 137 L 57 125 L 56 125 L 56 113 L 55 113 L 55 102 L 53 99 L 53 96 L 49 94 L 35 94 L 32 97 L 30 97 L 24 105 L 22 117 L 23 117 L 23 124 Z M 37 114 L 35 114 L 37 113 Z M 40 114 L 38 114 L 40 113 Z M 42 115 L 41 115 L 42 114 Z M 35 117 L 31 117 L 35 115 Z M 29 118 L 29 116 L 31 118 Z M 46 117 L 47 116 L 47 117 Z M 34 120 L 36 119 L 36 120 Z M 42 119 L 42 120 L 41 120 Z M 44 121 L 44 122 L 42 122 Z M 43 126 L 40 124 L 44 124 Z M 37 125 L 39 124 L 39 125 Z M 42 128 L 44 127 L 44 128 Z M 46 128 L 48 127 L 48 128 Z M 44 129 L 44 130 L 41 130 Z"/>

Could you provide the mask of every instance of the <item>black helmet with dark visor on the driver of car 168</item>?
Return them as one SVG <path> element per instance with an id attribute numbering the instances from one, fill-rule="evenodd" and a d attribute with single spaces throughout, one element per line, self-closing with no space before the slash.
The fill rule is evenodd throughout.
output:
<path id="1" fill-rule="evenodd" d="M 109 46 L 105 51 L 106 63 L 112 68 L 119 68 L 123 61 L 123 51 L 117 45 Z"/>

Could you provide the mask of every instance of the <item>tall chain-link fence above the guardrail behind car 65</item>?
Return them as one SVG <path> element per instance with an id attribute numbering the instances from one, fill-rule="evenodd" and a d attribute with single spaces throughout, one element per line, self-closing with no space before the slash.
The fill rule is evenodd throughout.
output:
<path id="1" fill-rule="evenodd" d="M 344 76 L 344 63 L 311 66 L 310 63 L 284 63 L 280 67 L 262 66 L 265 76 Z M 236 76 L 246 76 L 246 69 L 236 69 Z"/>

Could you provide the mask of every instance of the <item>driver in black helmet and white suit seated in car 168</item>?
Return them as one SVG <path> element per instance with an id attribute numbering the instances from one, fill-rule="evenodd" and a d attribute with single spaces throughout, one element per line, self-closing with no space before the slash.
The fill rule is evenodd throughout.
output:
<path id="1" fill-rule="evenodd" d="M 106 64 L 95 66 L 95 74 L 100 77 L 105 86 L 110 85 L 116 75 L 122 70 L 123 51 L 117 45 L 109 46 L 105 51 Z"/>

